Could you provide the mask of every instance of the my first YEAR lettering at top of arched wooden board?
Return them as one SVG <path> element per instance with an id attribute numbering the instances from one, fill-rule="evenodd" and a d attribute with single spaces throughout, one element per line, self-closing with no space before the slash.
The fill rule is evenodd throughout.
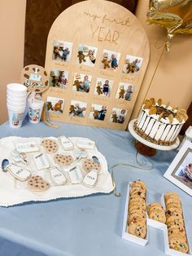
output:
<path id="1" fill-rule="evenodd" d="M 119 31 L 117 31 L 116 29 L 106 28 L 104 26 L 106 23 L 120 24 L 127 27 L 130 26 L 129 18 L 127 18 L 126 20 L 116 20 L 116 18 L 111 19 L 107 17 L 107 15 L 98 16 L 95 14 L 92 15 L 89 12 L 85 12 L 84 15 L 88 16 L 92 21 L 101 20 L 101 26 L 95 25 L 94 23 L 90 24 L 92 38 L 95 38 L 100 42 L 110 42 L 117 45 L 117 40 L 118 38 L 120 38 Z"/>

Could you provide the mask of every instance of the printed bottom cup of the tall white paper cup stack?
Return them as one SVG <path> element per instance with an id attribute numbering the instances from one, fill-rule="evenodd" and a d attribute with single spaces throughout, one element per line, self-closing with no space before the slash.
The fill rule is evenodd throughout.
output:
<path id="1" fill-rule="evenodd" d="M 22 111 L 20 111 L 19 108 L 17 111 L 8 108 L 8 116 L 11 128 L 20 128 L 20 126 L 22 126 L 22 122 L 24 121 L 24 108 Z"/>

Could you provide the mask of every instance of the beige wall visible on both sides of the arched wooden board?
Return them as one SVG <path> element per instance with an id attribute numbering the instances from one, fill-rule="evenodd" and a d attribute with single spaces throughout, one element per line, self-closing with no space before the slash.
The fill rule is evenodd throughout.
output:
<path id="1" fill-rule="evenodd" d="M 9 82 L 20 82 L 20 72 L 24 60 L 24 18 L 26 0 L 0 0 L 0 123 L 7 120 L 6 86 Z M 158 25 L 146 24 L 146 11 L 148 1 L 139 0 L 137 18 L 141 20 L 146 29 L 150 45 L 151 58 L 146 76 L 142 83 L 142 89 L 133 111 L 133 118 L 142 105 L 151 77 L 155 72 L 159 56 L 162 52 L 160 47 L 166 33 Z M 172 39 L 171 52 L 164 52 L 151 88 L 146 97 L 162 98 L 167 103 L 187 108 L 192 99 L 192 36 L 177 36 Z"/>

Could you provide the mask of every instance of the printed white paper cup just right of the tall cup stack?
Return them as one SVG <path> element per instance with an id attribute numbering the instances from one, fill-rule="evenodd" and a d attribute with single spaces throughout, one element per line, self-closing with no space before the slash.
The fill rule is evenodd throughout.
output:
<path id="1" fill-rule="evenodd" d="M 44 101 L 38 99 L 28 102 L 28 120 L 31 123 L 37 124 L 40 122 L 43 105 Z"/>

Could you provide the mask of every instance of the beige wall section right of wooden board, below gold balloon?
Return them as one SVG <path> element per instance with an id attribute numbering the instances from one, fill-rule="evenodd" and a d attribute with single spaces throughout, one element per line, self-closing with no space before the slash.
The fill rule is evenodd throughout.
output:
<path id="1" fill-rule="evenodd" d="M 139 0 L 136 13 L 146 29 L 151 46 L 151 56 L 132 118 L 137 117 L 145 96 L 146 98 L 162 98 L 166 104 L 170 101 L 172 105 L 182 108 L 188 108 L 192 100 L 192 36 L 178 35 L 173 38 L 171 51 L 164 51 L 155 73 L 163 51 L 162 45 L 166 40 L 166 30 L 156 24 L 146 24 L 148 2 Z M 155 76 L 151 82 L 154 73 Z M 148 90 L 150 82 L 151 87 Z"/>

